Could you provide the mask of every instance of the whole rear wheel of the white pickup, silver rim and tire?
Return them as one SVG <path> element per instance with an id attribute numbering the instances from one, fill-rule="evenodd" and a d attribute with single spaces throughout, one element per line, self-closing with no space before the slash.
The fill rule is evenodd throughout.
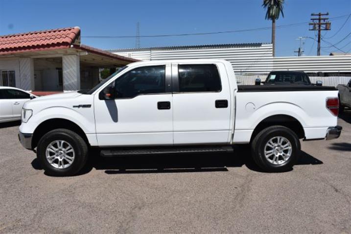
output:
<path id="1" fill-rule="evenodd" d="M 291 129 L 272 126 L 261 130 L 251 144 L 257 165 L 267 172 L 291 170 L 300 156 L 298 136 Z"/>

